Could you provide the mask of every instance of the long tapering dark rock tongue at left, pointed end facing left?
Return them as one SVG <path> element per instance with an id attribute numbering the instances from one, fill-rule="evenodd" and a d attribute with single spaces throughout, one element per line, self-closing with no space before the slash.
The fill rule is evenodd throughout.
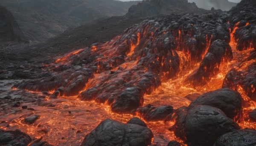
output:
<path id="1" fill-rule="evenodd" d="M 70 72 L 74 72 L 72 75 Z M 59 95 L 74 96 L 79 94 L 79 91 L 84 89 L 85 83 L 92 76 L 92 72 L 87 68 L 75 68 L 68 69 L 59 74 L 52 75 L 51 77 L 44 77 L 40 80 L 29 80 L 26 84 L 15 85 L 15 87 L 20 89 L 28 89 L 32 91 L 52 91 L 56 89 L 57 92 L 53 93 L 53 96 L 57 97 Z"/>

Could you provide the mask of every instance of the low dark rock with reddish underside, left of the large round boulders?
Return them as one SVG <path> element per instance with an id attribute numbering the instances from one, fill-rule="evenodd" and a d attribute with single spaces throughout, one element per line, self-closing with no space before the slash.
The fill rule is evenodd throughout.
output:
<path id="1" fill-rule="evenodd" d="M 167 115 L 171 115 L 174 111 L 172 106 L 146 105 L 136 109 L 136 112 L 146 121 L 157 121 L 166 119 Z"/>

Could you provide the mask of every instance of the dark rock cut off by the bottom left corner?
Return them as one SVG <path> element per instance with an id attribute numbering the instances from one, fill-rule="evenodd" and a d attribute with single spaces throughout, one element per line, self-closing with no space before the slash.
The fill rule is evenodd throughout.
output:
<path id="1" fill-rule="evenodd" d="M 4 131 L 0 129 L 0 145 L 3 146 L 27 146 L 31 138 L 20 130 Z"/>

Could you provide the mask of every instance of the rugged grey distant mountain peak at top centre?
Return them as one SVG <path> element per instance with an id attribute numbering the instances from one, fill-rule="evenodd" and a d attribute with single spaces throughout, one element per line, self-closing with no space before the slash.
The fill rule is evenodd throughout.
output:
<path id="1" fill-rule="evenodd" d="M 150 17 L 158 14 L 197 11 L 195 3 L 188 0 L 143 0 L 142 3 L 131 6 L 127 16 Z"/>

